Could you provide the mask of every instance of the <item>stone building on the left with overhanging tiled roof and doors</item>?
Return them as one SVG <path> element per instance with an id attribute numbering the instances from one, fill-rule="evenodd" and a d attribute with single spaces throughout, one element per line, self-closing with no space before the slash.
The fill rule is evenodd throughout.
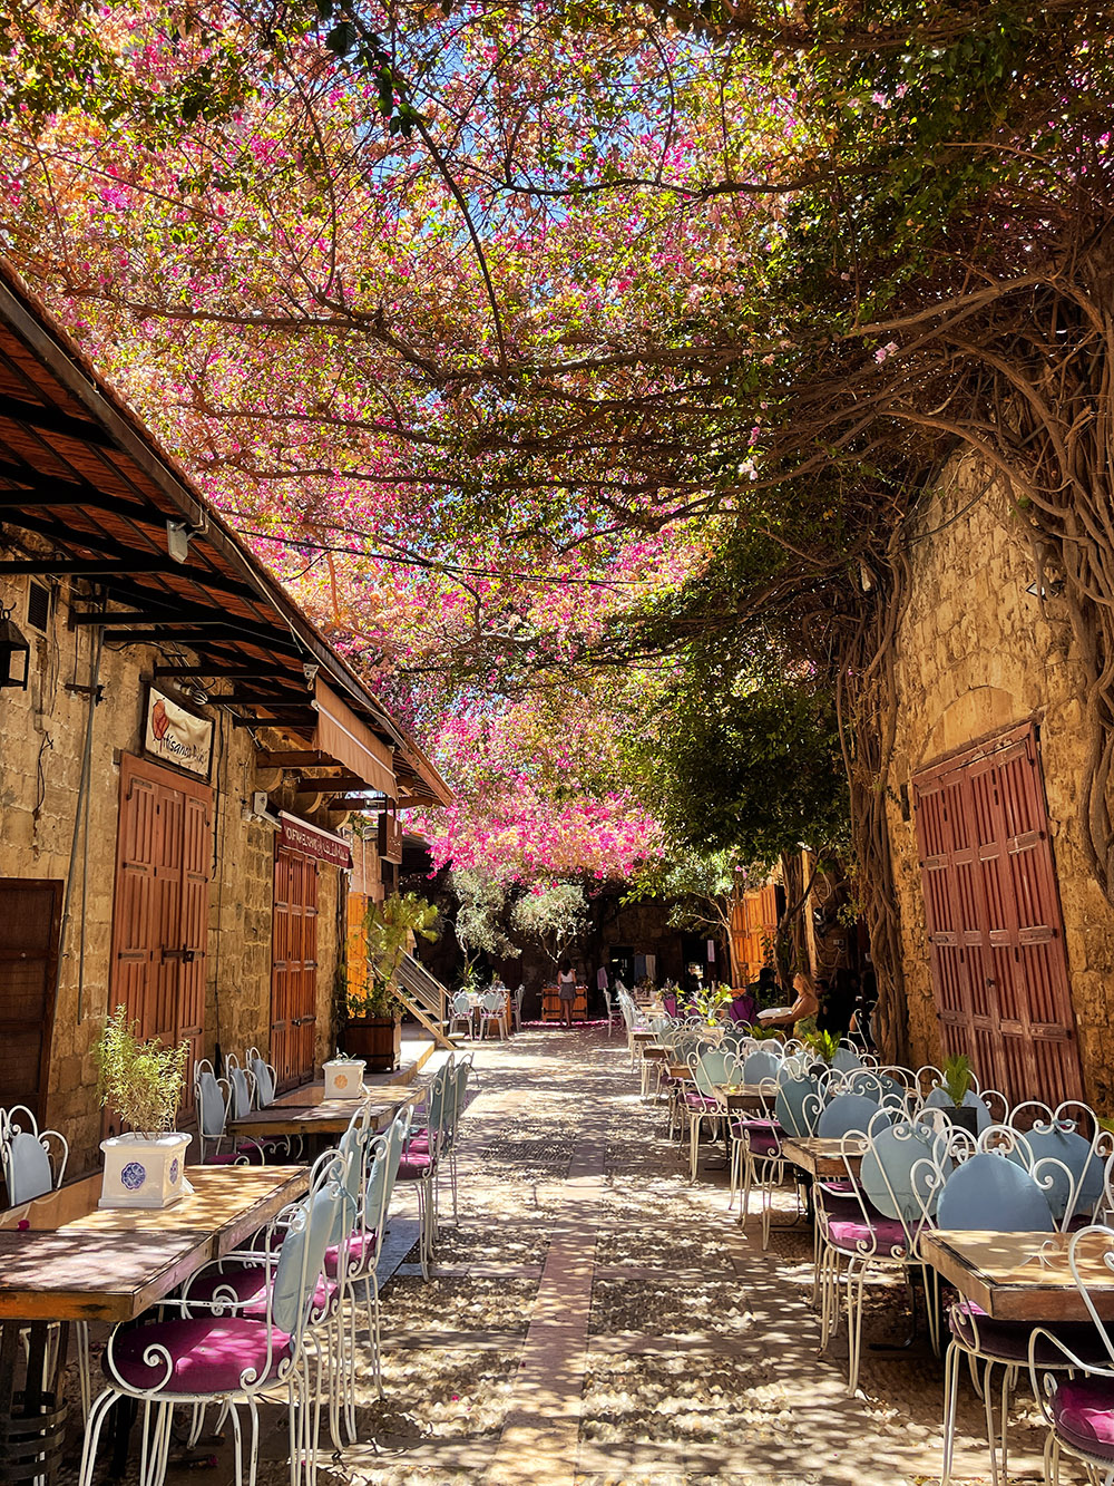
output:
<path id="1" fill-rule="evenodd" d="M 119 1005 L 192 1058 L 257 1046 L 282 1083 L 312 1076 L 349 813 L 449 794 L 1 265 L 0 608 L 0 1106 L 82 1171 Z M 397 871 L 377 846 L 370 896 Z"/>

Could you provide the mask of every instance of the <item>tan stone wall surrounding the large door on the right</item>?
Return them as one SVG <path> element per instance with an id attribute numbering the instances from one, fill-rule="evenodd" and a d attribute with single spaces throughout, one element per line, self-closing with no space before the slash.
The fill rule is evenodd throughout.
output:
<path id="1" fill-rule="evenodd" d="M 1059 878 L 1068 975 L 1087 1097 L 1110 1107 L 1114 1071 L 1104 1051 L 1114 1021 L 1114 912 L 1095 886 L 1077 825 L 1083 676 L 1062 600 L 1035 590 L 1023 520 L 1004 489 L 957 459 L 925 498 L 908 541 L 912 594 L 896 642 L 897 739 L 888 823 L 902 911 L 913 1061 L 940 1057 L 928 969 L 924 898 L 912 819 L 912 776 L 1034 721 Z M 1046 580 L 1047 581 L 1047 580 Z"/>

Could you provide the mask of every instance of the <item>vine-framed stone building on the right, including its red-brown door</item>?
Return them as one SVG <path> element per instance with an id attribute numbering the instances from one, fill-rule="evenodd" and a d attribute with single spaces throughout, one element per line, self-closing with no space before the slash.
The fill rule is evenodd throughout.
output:
<path id="1" fill-rule="evenodd" d="M 955 459 L 906 544 L 885 780 L 913 1062 L 1114 1103 L 1114 912 L 1077 820 L 1084 679 L 1000 483 Z"/>

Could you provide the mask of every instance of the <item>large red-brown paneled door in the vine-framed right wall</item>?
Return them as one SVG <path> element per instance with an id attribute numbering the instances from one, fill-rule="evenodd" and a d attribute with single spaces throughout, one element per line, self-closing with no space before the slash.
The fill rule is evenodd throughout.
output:
<path id="1" fill-rule="evenodd" d="M 1035 730 L 925 770 L 913 794 L 945 1054 L 1012 1101 L 1081 1098 Z"/>

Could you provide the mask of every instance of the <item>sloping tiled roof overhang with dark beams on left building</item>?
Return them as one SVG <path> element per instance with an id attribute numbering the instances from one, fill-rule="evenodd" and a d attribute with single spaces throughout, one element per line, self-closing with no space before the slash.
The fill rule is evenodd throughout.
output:
<path id="1" fill-rule="evenodd" d="M 233 725 L 285 734 L 285 767 L 340 764 L 337 779 L 306 779 L 318 792 L 367 785 L 414 805 L 453 798 L 3 259 L 0 547 L 0 596 L 6 577 L 68 578 L 71 623 L 104 627 L 113 645 L 159 646 L 156 682 L 201 685 Z M 328 718 L 318 672 L 330 682 Z M 321 728 L 328 746 L 315 747 Z"/>

